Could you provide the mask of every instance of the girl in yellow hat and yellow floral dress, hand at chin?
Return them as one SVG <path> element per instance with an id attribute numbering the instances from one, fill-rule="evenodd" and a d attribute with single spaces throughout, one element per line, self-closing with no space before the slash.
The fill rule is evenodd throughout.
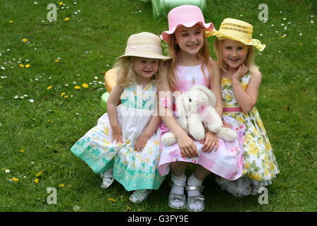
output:
<path id="1" fill-rule="evenodd" d="M 243 153 L 243 176 L 235 181 L 217 177 L 216 182 L 234 196 L 245 196 L 246 189 L 258 194 L 261 186 L 271 184 L 278 174 L 278 164 L 268 140 L 266 129 L 256 109 L 261 73 L 254 64 L 254 47 L 262 51 L 266 45 L 252 39 L 253 27 L 242 20 L 226 18 L 219 30 L 206 32 L 216 36 L 220 68 L 223 114 L 247 126 Z"/>

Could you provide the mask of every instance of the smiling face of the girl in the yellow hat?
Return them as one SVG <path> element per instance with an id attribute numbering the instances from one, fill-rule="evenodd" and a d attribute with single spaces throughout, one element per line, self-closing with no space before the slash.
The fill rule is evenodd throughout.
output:
<path id="1" fill-rule="evenodd" d="M 223 61 L 232 69 L 236 69 L 247 59 L 249 47 L 242 42 L 234 40 L 223 40 L 221 54 Z"/>

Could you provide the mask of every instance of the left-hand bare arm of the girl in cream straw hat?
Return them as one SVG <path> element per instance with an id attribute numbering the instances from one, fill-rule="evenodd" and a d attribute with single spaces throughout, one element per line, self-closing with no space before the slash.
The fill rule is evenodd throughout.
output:
<path id="1" fill-rule="evenodd" d="M 108 97 L 107 109 L 108 109 L 108 118 L 109 123 L 112 129 L 112 140 L 117 143 L 123 143 L 122 130 L 118 121 L 117 116 L 117 105 L 120 100 L 120 96 L 123 93 L 123 87 L 115 85 Z"/>

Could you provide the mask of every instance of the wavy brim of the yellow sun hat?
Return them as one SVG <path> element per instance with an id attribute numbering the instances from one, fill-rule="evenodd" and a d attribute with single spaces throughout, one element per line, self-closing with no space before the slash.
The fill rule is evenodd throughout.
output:
<path id="1" fill-rule="evenodd" d="M 206 37 L 211 37 L 211 36 L 216 36 L 218 38 L 218 40 L 229 39 L 229 40 L 235 40 L 238 42 L 242 42 L 243 44 L 253 45 L 254 47 L 256 47 L 256 49 L 259 49 L 259 51 L 263 51 L 263 49 L 265 49 L 265 47 L 266 47 L 266 44 L 261 44 L 261 42 L 259 40 L 256 40 L 256 39 L 246 40 L 244 38 L 234 37 L 232 35 L 218 32 L 218 30 L 216 30 L 216 29 L 213 29 L 211 31 L 206 31 Z"/>

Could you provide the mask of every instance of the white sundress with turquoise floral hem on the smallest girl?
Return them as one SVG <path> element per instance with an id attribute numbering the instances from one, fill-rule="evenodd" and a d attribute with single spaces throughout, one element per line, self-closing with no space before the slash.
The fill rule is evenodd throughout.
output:
<path id="1" fill-rule="evenodd" d="M 124 89 L 121 105 L 117 107 L 124 143 L 111 143 L 112 131 L 106 113 L 71 150 L 98 174 L 113 168 L 113 177 L 127 191 L 159 189 L 164 177 L 157 169 L 160 155 L 158 133 L 154 133 L 142 152 L 137 153 L 134 148 L 155 110 L 156 85 L 151 82 L 143 89 L 137 83 L 130 85 Z"/>

